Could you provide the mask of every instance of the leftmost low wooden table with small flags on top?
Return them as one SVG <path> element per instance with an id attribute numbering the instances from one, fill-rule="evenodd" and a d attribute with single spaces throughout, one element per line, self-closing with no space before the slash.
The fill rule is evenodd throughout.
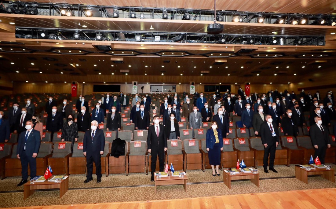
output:
<path id="1" fill-rule="evenodd" d="M 31 196 L 35 190 L 59 189 L 59 198 L 61 198 L 69 189 L 69 177 L 62 179 L 60 183 L 45 180 L 44 182 L 35 182 L 31 184 L 30 181 L 25 183 L 25 191 L 23 199 L 26 200 Z"/>

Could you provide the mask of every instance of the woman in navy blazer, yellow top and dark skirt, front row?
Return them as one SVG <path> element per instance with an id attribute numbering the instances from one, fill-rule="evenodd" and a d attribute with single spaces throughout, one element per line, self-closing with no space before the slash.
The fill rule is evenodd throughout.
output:
<path id="1" fill-rule="evenodd" d="M 206 145 L 209 157 L 209 164 L 212 168 L 212 175 L 219 176 L 220 152 L 223 150 L 222 130 L 218 129 L 216 121 L 211 122 L 211 128 L 207 131 Z M 216 173 L 215 173 L 216 166 Z"/>

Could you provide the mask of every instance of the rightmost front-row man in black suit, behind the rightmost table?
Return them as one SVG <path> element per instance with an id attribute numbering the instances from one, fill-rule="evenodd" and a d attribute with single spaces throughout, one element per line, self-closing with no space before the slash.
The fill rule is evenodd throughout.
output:
<path id="1" fill-rule="evenodd" d="M 324 164 L 327 147 L 331 147 L 329 138 L 329 130 L 326 126 L 322 125 L 321 117 L 314 117 L 314 124 L 310 124 L 310 139 L 314 146 L 314 159 L 319 156 L 321 164 Z"/>

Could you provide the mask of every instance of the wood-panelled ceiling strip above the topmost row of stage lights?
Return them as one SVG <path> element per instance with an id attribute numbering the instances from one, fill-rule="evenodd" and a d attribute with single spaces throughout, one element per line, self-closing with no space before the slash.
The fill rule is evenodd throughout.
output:
<path id="1" fill-rule="evenodd" d="M 214 9 L 213 0 L 20 0 L 85 5 L 113 5 L 158 8 Z M 336 13 L 335 0 L 218 0 L 217 10 L 305 14 Z"/>

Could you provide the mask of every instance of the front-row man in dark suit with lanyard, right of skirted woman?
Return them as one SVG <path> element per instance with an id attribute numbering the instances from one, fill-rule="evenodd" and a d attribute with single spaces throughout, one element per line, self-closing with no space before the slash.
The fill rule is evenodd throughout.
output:
<path id="1" fill-rule="evenodd" d="M 275 151 L 279 144 L 279 131 L 276 128 L 276 124 L 272 123 L 272 116 L 266 116 L 266 122 L 261 124 L 260 126 L 260 137 L 262 144 L 264 145 L 264 172 L 268 173 L 268 156 L 269 156 L 269 170 L 278 173 L 274 169 L 274 159 L 275 159 Z"/>

